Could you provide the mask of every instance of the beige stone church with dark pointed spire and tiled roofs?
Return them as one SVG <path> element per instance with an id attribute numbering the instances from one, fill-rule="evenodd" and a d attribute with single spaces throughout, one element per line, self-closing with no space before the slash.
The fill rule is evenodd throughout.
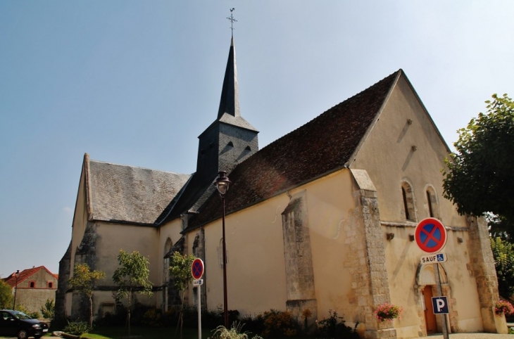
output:
<path id="1" fill-rule="evenodd" d="M 277 309 L 300 320 L 309 309 L 313 322 L 334 310 L 365 338 L 418 338 L 442 331 L 431 303 L 438 265 L 449 332 L 506 333 L 504 317 L 494 314 L 499 295 L 487 224 L 459 215 L 443 197 L 441 169 L 451 151 L 406 73 L 397 70 L 318 114 L 259 149 L 258 130 L 239 110 L 232 37 L 218 115 L 199 136 L 196 172 L 84 155 L 57 315 L 88 312 L 67 286 L 74 264 L 84 262 L 106 272 L 94 292 L 95 316 L 113 312 L 120 249 L 150 262 L 154 293 L 137 301 L 173 307 L 168 267 L 178 250 L 205 263 L 201 295 L 193 286 L 187 291 L 190 305 L 199 298 L 208 309 L 223 304 L 226 265 L 227 305 L 240 314 Z M 226 261 L 220 171 L 232 182 Z M 428 217 L 446 228 L 446 262 L 420 263 L 426 253 L 415 227 Z M 401 319 L 377 319 L 385 302 L 403 307 Z"/>

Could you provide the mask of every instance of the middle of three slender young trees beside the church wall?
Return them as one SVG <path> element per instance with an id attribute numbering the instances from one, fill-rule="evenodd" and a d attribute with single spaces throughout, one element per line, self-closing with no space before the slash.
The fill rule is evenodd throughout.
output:
<path id="1" fill-rule="evenodd" d="M 127 329 L 130 336 L 130 307 L 134 291 L 149 297 L 153 295 L 152 283 L 149 280 L 149 260 L 137 251 L 128 253 L 120 250 L 118 264 L 120 267 L 113 274 L 113 281 L 118 285 L 118 291 L 114 293 L 114 298 L 117 301 L 127 298 Z"/>

